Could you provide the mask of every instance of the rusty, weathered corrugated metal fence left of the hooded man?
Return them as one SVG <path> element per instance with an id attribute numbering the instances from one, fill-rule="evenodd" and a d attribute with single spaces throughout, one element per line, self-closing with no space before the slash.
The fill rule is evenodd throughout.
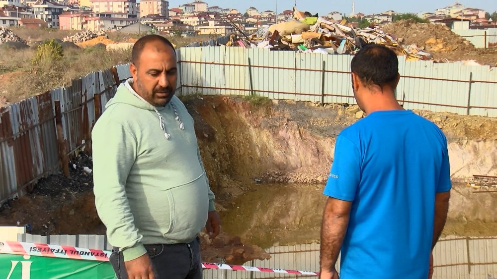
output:
<path id="1" fill-rule="evenodd" d="M 69 174 L 69 156 L 91 147 L 96 119 L 130 76 L 129 64 L 117 65 L 0 108 L 0 205 L 41 177 Z"/>

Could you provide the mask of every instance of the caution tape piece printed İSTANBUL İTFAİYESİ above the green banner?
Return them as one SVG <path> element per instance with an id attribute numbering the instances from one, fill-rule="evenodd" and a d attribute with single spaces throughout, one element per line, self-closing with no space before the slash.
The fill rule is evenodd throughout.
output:
<path id="1" fill-rule="evenodd" d="M 0 253 L 76 260 L 108 261 L 111 252 L 53 244 L 0 241 Z"/>

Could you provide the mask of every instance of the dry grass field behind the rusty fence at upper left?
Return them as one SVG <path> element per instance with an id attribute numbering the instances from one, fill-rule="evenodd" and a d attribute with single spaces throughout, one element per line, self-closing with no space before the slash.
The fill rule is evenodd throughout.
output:
<path id="1" fill-rule="evenodd" d="M 76 31 L 12 28 L 14 33 L 28 42 L 46 39 L 63 39 Z M 139 39 L 143 34 L 108 33 L 109 39 L 123 42 Z M 192 42 L 207 41 L 214 37 L 201 35 L 193 37 L 167 37 L 177 47 Z M 48 61 L 50 67 L 37 67 L 32 63 L 34 49 L 0 51 L 0 106 L 2 101 L 15 103 L 22 99 L 46 92 L 50 89 L 71 84 L 71 80 L 86 74 L 108 69 L 131 60 L 131 50 L 110 51 L 92 47 L 84 50 L 64 51 L 63 59 Z"/>

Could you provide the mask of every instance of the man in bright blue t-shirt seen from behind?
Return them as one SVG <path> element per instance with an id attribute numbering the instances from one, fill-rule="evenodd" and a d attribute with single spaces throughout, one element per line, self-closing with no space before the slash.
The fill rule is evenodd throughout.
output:
<path id="1" fill-rule="evenodd" d="M 324 194 L 322 279 L 431 278 L 432 250 L 447 218 L 447 140 L 395 98 L 398 59 L 381 45 L 351 62 L 357 104 L 367 116 L 336 139 Z"/>

